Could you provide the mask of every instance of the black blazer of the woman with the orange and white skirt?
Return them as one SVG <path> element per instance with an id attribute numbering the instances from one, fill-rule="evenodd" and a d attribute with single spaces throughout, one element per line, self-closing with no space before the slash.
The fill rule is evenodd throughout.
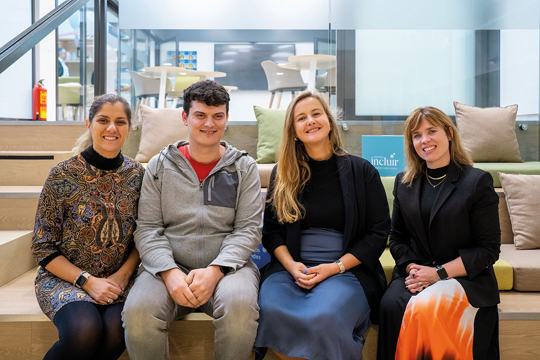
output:
<path id="1" fill-rule="evenodd" d="M 392 280 L 407 276 L 411 263 L 442 265 L 461 256 L 467 276 L 457 277 L 469 302 L 476 308 L 500 302 L 493 264 L 501 248 L 499 198 L 493 178 L 481 169 L 450 162 L 447 178 L 431 209 L 429 234 L 420 214 L 420 193 L 425 176 L 412 186 L 394 184 L 394 210 L 390 230 L 390 253 L 396 260 Z"/>

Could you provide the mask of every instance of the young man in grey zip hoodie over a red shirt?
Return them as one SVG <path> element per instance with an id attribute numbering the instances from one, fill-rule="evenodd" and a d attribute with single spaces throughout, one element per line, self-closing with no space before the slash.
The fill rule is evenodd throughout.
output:
<path id="1" fill-rule="evenodd" d="M 214 318 L 216 359 L 251 355 L 261 186 L 255 161 L 221 141 L 229 99 L 213 80 L 184 90 L 189 141 L 168 145 L 146 167 L 134 232 L 144 269 L 122 313 L 132 360 L 168 359 L 169 325 L 197 308 Z"/>

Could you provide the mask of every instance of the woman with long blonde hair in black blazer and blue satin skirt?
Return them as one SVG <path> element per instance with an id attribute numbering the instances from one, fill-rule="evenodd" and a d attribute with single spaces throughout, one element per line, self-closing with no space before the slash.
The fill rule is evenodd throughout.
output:
<path id="1" fill-rule="evenodd" d="M 386 279 L 379 262 L 390 229 L 379 173 L 342 150 L 322 95 L 288 106 L 262 228 L 255 349 L 280 358 L 360 359 Z"/>

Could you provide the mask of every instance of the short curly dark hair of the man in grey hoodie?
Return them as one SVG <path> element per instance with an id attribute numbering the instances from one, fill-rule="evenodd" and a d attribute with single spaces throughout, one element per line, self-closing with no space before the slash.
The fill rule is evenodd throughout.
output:
<path id="1" fill-rule="evenodd" d="M 191 101 L 199 101 L 208 106 L 225 105 L 229 113 L 231 97 L 225 87 L 214 80 L 202 80 L 184 90 L 184 111 L 190 113 Z"/>

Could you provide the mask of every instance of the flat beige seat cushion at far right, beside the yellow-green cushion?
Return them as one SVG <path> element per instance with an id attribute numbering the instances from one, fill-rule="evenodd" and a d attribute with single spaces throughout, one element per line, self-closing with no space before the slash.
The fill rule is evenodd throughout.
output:
<path id="1" fill-rule="evenodd" d="M 540 291 L 540 249 L 517 250 L 512 244 L 501 244 L 501 259 L 514 268 L 514 289 Z"/>

